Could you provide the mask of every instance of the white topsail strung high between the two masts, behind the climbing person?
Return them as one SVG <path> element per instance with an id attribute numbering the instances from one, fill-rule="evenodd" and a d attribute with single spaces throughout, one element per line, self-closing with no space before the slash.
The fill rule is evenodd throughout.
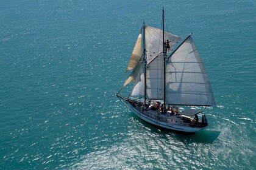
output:
<path id="1" fill-rule="evenodd" d="M 174 47 L 181 38 L 177 35 L 165 32 L 165 41 L 169 40 L 169 46 Z M 145 41 L 148 63 L 163 52 L 163 31 L 154 27 L 146 26 Z"/>

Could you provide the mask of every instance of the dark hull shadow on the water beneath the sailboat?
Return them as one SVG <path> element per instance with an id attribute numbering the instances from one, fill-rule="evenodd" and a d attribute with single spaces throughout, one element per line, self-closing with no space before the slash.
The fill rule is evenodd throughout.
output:
<path id="1" fill-rule="evenodd" d="M 151 132 L 160 135 L 160 137 L 168 139 L 167 136 L 171 135 L 172 137 L 178 138 L 183 143 L 213 143 L 221 134 L 220 131 L 210 131 L 204 130 L 202 132 L 190 133 L 190 132 L 180 132 L 174 131 L 171 129 L 165 129 L 163 127 L 155 126 L 154 124 L 148 123 L 144 120 L 141 120 L 136 115 L 133 116 L 138 120 L 143 126 L 151 129 Z"/>

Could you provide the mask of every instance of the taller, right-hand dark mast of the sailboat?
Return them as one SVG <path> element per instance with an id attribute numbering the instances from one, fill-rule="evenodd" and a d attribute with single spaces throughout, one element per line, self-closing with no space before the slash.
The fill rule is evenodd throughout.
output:
<path id="1" fill-rule="evenodd" d="M 165 44 L 165 11 L 163 10 L 163 108 L 165 108 L 165 101 L 166 101 L 166 89 L 165 89 L 165 84 L 166 84 L 166 75 L 165 75 L 165 70 L 166 70 L 166 66 L 165 66 L 165 62 L 166 62 L 166 44 Z M 166 50 L 165 50 L 166 49 Z"/>

